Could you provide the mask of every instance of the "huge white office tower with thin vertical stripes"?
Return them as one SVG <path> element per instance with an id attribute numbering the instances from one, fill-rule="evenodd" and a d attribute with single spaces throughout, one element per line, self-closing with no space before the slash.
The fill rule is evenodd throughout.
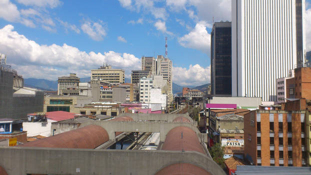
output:
<path id="1" fill-rule="evenodd" d="M 304 3 L 232 0 L 232 96 L 276 101 L 276 79 L 305 59 Z"/>

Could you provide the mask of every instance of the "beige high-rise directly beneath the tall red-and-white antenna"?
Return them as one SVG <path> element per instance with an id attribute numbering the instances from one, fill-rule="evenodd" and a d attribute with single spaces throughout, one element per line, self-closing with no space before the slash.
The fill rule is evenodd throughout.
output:
<path id="1" fill-rule="evenodd" d="M 173 84 L 172 84 L 172 61 L 169 58 L 165 58 L 162 55 L 157 55 L 157 75 L 162 75 L 164 80 L 168 81 L 169 84 L 169 94 L 168 101 L 173 100 Z"/>

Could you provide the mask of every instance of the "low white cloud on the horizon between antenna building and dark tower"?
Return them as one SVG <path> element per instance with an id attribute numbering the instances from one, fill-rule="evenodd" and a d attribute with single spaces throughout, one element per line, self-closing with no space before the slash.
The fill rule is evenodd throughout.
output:
<path id="1" fill-rule="evenodd" d="M 189 68 L 173 67 L 173 82 L 179 85 L 206 84 L 210 82 L 210 66 L 199 64 L 189 65 Z"/>

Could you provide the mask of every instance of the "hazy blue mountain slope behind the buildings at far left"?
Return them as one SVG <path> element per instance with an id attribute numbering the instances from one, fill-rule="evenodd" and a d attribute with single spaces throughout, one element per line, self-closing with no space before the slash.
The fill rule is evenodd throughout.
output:
<path id="1" fill-rule="evenodd" d="M 24 86 L 35 87 L 43 90 L 57 90 L 57 80 L 25 78 Z"/>

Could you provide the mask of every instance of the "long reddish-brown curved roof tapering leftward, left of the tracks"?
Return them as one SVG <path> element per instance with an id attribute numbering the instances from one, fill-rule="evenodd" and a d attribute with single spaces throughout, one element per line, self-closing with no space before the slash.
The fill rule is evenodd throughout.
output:
<path id="1" fill-rule="evenodd" d="M 54 136 L 27 142 L 19 146 L 27 147 L 61 147 L 61 148 L 95 148 L 109 140 L 107 131 L 101 126 L 90 124 Z"/>

